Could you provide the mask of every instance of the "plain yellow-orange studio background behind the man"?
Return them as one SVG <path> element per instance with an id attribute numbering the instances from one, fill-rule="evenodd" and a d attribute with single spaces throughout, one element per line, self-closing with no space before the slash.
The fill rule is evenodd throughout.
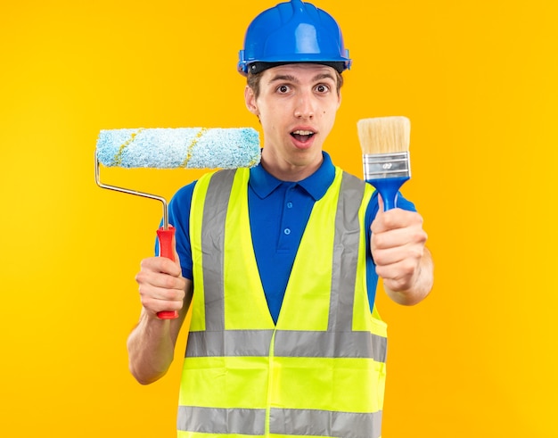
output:
<path id="1" fill-rule="evenodd" d="M 94 185 L 102 128 L 258 128 L 237 51 L 271 1 L 68 0 L 0 6 L 0 434 L 173 436 L 180 357 L 127 371 L 160 206 Z M 412 121 L 436 260 L 390 324 L 383 436 L 555 437 L 556 6 L 548 0 L 321 0 L 354 58 L 326 149 L 360 175 L 358 119 Z M 111 170 L 170 196 L 200 172 Z"/>

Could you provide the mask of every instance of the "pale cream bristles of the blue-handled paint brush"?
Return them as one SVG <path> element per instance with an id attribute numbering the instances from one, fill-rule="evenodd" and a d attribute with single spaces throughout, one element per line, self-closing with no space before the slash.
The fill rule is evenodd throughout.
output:
<path id="1" fill-rule="evenodd" d="M 360 147 L 365 155 L 409 150 L 411 122 L 404 116 L 358 120 L 357 128 Z"/>

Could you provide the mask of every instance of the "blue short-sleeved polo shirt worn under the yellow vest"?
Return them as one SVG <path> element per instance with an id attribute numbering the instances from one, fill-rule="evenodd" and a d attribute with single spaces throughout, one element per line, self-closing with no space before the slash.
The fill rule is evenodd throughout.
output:
<path id="1" fill-rule="evenodd" d="M 314 202 L 324 196 L 334 177 L 335 167 L 328 153 L 324 153 L 320 168 L 299 182 L 281 181 L 267 173 L 261 165 L 250 169 L 248 208 L 252 242 L 269 312 L 275 323 Z M 168 221 L 176 227 L 176 251 L 180 257 L 183 276 L 190 279 L 193 279 L 193 275 L 189 213 L 194 186 L 195 181 L 181 188 L 168 205 Z M 398 207 L 414 211 L 414 205 L 401 195 L 398 196 Z M 365 215 L 368 254 L 370 225 L 377 211 L 377 195 L 373 194 Z M 372 311 L 378 277 L 371 256 L 367 259 L 366 276 Z"/>

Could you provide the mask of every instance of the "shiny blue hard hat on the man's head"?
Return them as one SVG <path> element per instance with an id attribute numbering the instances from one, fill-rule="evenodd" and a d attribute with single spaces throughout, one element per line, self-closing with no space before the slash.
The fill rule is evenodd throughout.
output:
<path id="1" fill-rule="evenodd" d="M 291 0 L 261 12 L 246 30 L 238 71 L 258 72 L 291 62 L 316 62 L 339 72 L 350 68 L 337 21 L 314 4 Z"/>

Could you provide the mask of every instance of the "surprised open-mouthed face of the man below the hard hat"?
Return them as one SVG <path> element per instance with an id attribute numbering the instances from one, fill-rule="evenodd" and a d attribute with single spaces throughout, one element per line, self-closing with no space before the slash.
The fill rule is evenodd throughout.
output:
<path id="1" fill-rule="evenodd" d="M 246 105 L 264 131 L 266 160 L 308 167 L 322 161 L 322 147 L 341 104 L 332 67 L 294 63 L 265 70 L 256 97 L 246 87 Z"/>

